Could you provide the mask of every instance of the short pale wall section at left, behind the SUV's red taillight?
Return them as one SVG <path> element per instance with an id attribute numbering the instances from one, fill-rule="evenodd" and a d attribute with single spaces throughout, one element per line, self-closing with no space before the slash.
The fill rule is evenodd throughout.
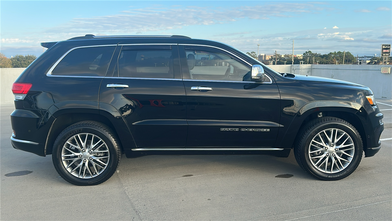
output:
<path id="1" fill-rule="evenodd" d="M 26 68 L 0 68 L 0 104 L 14 103 L 12 83 Z"/>

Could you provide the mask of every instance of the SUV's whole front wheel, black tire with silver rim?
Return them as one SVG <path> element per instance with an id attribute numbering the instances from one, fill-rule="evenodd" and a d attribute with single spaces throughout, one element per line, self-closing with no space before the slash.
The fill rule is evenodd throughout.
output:
<path id="1" fill-rule="evenodd" d="M 362 152 L 362 139 L 355 127 L 334 117 L 308 123 L 294 147 L 299 166 L 320 180 L 348 177 L 361 162 Z"/>

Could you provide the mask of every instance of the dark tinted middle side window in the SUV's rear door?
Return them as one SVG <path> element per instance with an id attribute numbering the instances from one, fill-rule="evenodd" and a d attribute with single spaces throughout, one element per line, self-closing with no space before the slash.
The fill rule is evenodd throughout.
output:
<path id="1" fill-rule="evenodd" d="M 119 77 L 174 78 L 171 45 L 123 46 L 114 75 Z"/>

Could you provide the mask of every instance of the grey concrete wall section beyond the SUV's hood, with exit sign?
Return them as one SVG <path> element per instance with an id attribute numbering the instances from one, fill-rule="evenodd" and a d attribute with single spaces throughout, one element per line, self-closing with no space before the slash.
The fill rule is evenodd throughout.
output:
<path id="1" fill-rule="evenodd" d="M 391 67 L 392 69 L 392 65 L 286 64 L 268 66 L 281 73 L 350 81 L 369 87 L 376 98 L 392 99 L 392 74 L 381 73 L 381 67 Z"/>

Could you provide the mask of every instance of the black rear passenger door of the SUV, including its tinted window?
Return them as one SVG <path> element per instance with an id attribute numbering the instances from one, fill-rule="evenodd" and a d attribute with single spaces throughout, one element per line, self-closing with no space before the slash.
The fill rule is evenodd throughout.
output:
<path id="1" fill-rule="evenodd" d="M 118 47 L 101 83 L 100 109 L 118 111 L 138 148 L 184 147 L 186 100 L 176 42 Z"/>

